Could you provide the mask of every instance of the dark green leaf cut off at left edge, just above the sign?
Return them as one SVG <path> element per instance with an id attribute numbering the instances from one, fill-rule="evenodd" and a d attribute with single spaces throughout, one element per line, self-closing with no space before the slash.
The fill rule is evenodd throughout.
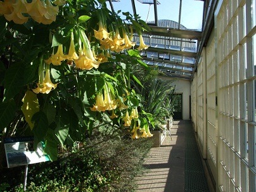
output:
<path id="1" fill-rule="evenodd" d="M 13 117 L 15 117 L 16 104 L 13 99 L 7 102 L 0 103 L 0 131 L 10 124 Z"/>

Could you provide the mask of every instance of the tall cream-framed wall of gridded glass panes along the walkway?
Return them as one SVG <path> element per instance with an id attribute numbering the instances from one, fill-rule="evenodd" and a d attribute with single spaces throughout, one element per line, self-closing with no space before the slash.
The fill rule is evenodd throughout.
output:
<path id="1" fill-rule="evenodd" d="M 255 1 L 219 1 L 202 58 L 206 70 L 199 63 L 191 83 L 193 125 L 216 191 L 256 191 Z"/>

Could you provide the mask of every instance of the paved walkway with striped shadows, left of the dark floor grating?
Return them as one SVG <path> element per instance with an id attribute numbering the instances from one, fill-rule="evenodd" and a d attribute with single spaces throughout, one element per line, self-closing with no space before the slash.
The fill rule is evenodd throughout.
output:
<path id="1" fill-rule="evenodd" d="M 148 172 L 137 178 L 139 184 L 137 192 L 208 191 L 208 189 L 189 189 L 189 183 L 185 181 L 186 167 L 188 167 L 186 129 L 192 129 L 189 120 L 174 121 L 170 131 L 172 137 L 167 136 L 160 148 L 151 148 L 150 155 L 144 163 Z M 198 162 L 202 163 L 200 159 Z"/>

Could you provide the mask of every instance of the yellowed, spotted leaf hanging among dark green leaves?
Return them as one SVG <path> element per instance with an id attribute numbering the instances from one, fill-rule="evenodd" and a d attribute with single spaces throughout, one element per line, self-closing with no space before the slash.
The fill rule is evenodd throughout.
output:
<path id="1" fill-rule="evenodd" d="M 27 91 L 22 101 L 22 112 L 25 116 L 26 122 L 29 124 L 29 127 L 32 130 L 34 124 L 32 123 L 31 119 L 35 113 L 39 112 L 39 101 L 37 99 L 37 94 L 32 91 Z"/>

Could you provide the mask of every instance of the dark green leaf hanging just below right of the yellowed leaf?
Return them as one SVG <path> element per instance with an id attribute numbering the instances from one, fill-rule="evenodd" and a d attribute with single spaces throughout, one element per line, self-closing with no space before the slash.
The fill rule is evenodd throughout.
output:
<path id="1" fill-rule="evenodd" d="M 44 112 L 37 112 L 32 117 L 32 122 L 34 123 L 33 132 L 34 138 L 34 148 L 37 144 L 44 139 L 46 132 L 48 131 L 48 119 Z"/>

